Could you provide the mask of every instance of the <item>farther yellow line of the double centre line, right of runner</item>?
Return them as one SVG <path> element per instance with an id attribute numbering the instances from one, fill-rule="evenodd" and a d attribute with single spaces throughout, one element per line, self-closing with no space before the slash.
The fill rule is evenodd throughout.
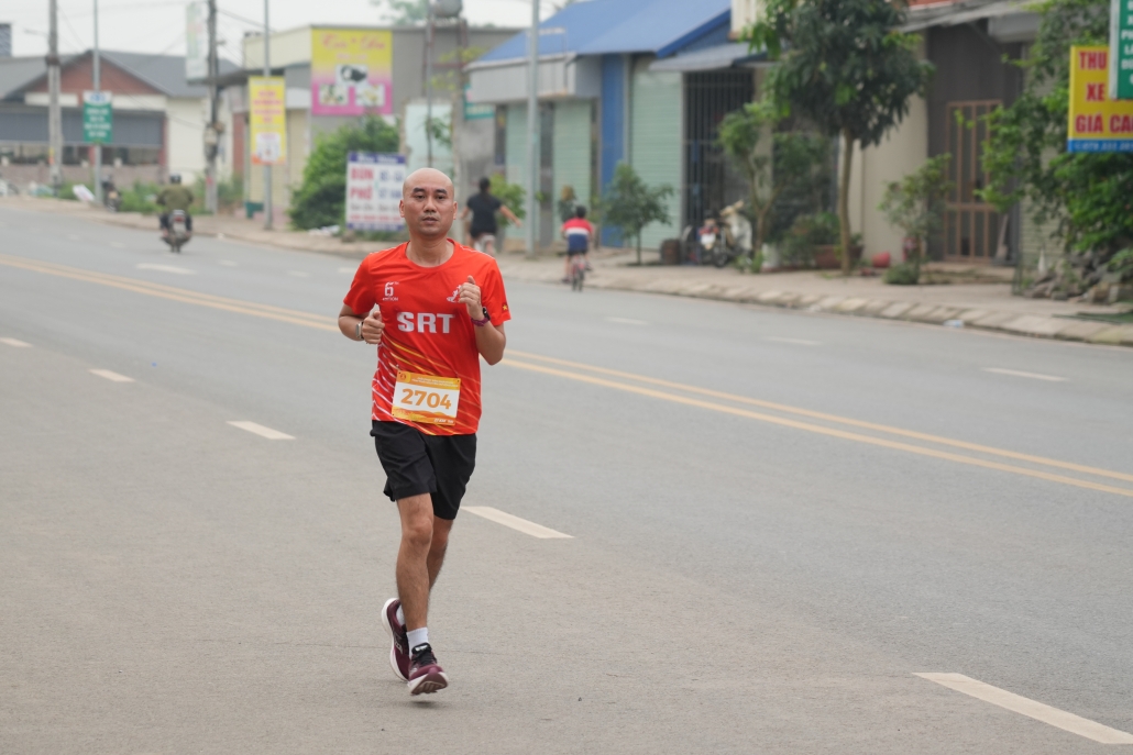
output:
<path id="1" fill-rule="evenodd" d="M 1055 466 L 1058 469 L 1071 470 L 1073 472 L 1084 472 L 1085 474 L 1096 474 L 1098 477 L 1111 478 L 1114 480 L 1124 480 L 1126 482 L 1133 482 L 1133 474 L 1126 474 L 1124 472 L 1114 472 L 1111 470 L 1104 470 L 1097 466 L 1087 466 L 1084 464 L 1075 464 L 1073 462 L 1058 461 L 1057 458 L 1047 458 L 1045 456 L 1032 456 L 1030 454 L 1021 454 L 1014 451 L 1007 451 L 1005 448 L 982 446 L 977 443 L 968 443 L 966 440 L 956 440 L 954 438 L 945 438 L 938 435 L 929 435 L 928 432 L 918 432 L 915 430 L 905 430 L 902 428 L 891 427 L 888 424 L 877 424 L 876 422 L 866 422 L 863 420 L 855 420 L 849 417 L 838 417 L 837 414 L 826 414 L 825 412 L 816 412 L 809 409 L 800 409 L 798 406 L 790 406 L 787 404 L 777 404 L 772 401 L 761 401 L 759 398 L 739 396 L 735 394 L 724 393 L 721 391 L 700 388 L 695 385 L 685 385 L 683 383 L 662 380 L 645 375 L 634 375 L 633 372 L 622 372 L 621 370 L 612 370 L 605 367 L 594 367 L 591 364 L 583 364 L 581 362 L 571 362 L 564 359 L 555 359 L 554 357 L 543 357 L 540 354 L 531 354 L 522 351 L 513 351 L 510 349 L 508 350 L 508 354 L 513 357 L 521 357 L 523 359 L 534 359 L 536 361 L 547 362 L 550 364 L 559 364 L 561 367 L 570 367 L 572 369 L 586 370 L 588 372 L 596 372 L 598 375 L 608 375 L 611 377 L 619 377 L 627 380 L 646 383 L 648 385 L 657 385 L 665 388 L 672 388 L 674 391 L 685 391 L 689 393 L 699 394 L 701 396 L 723 398 L 725 401 L 733 401 L 736 403 L 748 404 L 751 406 L 759 406 L 761 409 L 774 409 L 775 411 L 778 412 L 798 414 L 800 417 L 809 417 L 811 419 L 823 420 L 826 422 L 837 422 L 838 424 L 849 424 L 851 427 L 861 428 L 863 430 L 887 432 L 889 435 L 896 435 L 904 438 L 914 438 L 917 440 L 927 440 L 928 443 L 936 443 L 943 446 L 953 446 L 954 448 L 963 448 L 964 451 L 976 451 L 981 454 L 991 454 L 994 456 L 1014 458 L 1015 461 L 1020 462 L 1030 462 L 1031 464 L 1042 464 L 1045 466 Z"/>

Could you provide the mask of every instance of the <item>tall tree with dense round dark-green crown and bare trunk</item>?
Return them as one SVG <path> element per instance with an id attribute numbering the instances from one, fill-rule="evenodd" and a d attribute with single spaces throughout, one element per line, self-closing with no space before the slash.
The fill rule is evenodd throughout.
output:
<path id="1" fill-rule="evenodd" d="M 838 218 L 846 275 L 853 147 L 880 144 L 934 70 L 917 58 L 918 37 L 897 31 L 904 19 L 904 0 L 768 0 L 764 18 L 744 31 L 753 49 L 778 61 L 768 76 L 778 105 L 842 140 Z"/>

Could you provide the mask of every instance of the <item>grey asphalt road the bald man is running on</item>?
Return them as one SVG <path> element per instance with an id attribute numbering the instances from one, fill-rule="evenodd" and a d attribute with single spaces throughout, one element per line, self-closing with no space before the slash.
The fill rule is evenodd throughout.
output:
<path id="1" fill-rule="evenodd" d="M 355 266 L 0 208 L 0 752 L 1133 732 L 1133 351 L 519 283 L 410 700 Z"/>

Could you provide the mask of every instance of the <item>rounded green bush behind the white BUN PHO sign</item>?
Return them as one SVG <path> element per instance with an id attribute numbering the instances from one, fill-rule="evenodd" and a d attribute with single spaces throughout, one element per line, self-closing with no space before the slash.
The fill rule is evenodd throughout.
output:
<path id="1" fill-rule="evenodd" d="M 291 195 L 291 223 L 299 229 L 342 223 L 348 153 L 397 152 L 398 143 L 398 129 L 374 117 L 318 137 L 303 170 L 303 182 Z"/>

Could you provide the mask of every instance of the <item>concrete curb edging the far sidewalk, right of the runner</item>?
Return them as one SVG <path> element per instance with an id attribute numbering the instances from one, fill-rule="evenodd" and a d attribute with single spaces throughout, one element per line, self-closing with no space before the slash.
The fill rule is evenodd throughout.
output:
<path id="1" fill-rule="evenodd" d="M 509 272 L 511 275 L 509 275 Z M 531 283 L 555 283 L 545 276 L 516 275 L 514 271 L 504 271 L 505 277 Z M 948 327 L 971 327 L 981 331 L 997 331 L 1013 335 L 1025 335 L 1037 338 L 1055 338 L 1058 341 L 1081 341 L 1083 343 L 1105 344 L 1113 346 L 1133 346 L 1133 325 L 1114 325 L 1113 323 L 1090 323 L 1065 317 L 1045 317 L 1039 315 L 1020 315 L 989 309 L 971 309 L 949 307 L 945 304 L 926 304 L 889 299 L 861 299 L 853 297 L 830 297 L 825 294 L 801 294 L 791 291 L 756 292 L 744 286 L 721 286 L 712 283 L 682 284 L 678 281 L 603 281 L 600 275 L 594 276 L 588 285 L 595 289 L 616 291 L 639 291 L 642 293 L 664 293 L 693 299 L 716 299 L 734 303 L 761 304 L 783 309 L 802 309 L 811 312 L 832 315 L 851 315 L 855 317 L 877 317 L 880 319 L 905 320 L 926 325 L 947 324 Z"/>

